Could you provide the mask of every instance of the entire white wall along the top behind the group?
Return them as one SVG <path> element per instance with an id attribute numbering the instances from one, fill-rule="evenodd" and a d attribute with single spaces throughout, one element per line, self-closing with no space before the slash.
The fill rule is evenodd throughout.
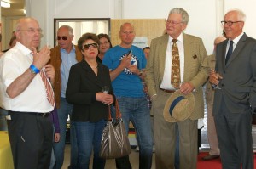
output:
<path id="1" fill-rule="evenodd" d="M 184 8 L 189 13 L 186 33 L 201 37 L 212 54 L 213 40 L 221 35 L 220 21 L 229 8 L 241 8 L 247 14 L 247 35 L 255 36 L 253 8 L 256 0 L 26 0 L 28 16 L 38 17 L 44 30 L 42 45 L 54 44 L 54 18 L 160 19 L 170 9 Z M 27 4 L 30 3 L 30 4 Z M 27 8 L 28 7 L 28 8 Z M 254 12 L 255 11 L 255 12 Z M 138 28 L 137 28 L 138 29 Z"/>

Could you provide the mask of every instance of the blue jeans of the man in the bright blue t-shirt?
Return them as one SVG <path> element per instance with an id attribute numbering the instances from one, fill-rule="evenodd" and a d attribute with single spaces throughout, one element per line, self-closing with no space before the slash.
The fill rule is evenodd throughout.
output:
<path id="1" fill-rule="evenodd" d="M 117 97 L 117 99 L 127 134 L 129 132 L 130 121 L 137 133 L 137 142 L 140 149 L 139 168 L 150 169 L 152 165 L 153 140 L 150 132 L 151 124 L 148 101 L 145 97 Z M 117 168 L 131 168 L 129 157 L 126 156 L 116 159 L 116 166 Z"/>

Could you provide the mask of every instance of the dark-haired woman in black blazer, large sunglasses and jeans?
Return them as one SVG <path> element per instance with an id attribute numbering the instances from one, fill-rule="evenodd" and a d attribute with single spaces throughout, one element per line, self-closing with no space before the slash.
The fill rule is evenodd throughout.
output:
<path id="1" fill-rule="evenodd" d="M 67 82 L 67 102 L 73 104 L 73 121 L 78 139 L 79 158 L 76 168 L 89 168 L 93 149 L 93 168 L 104 168 L 100 154 L 102 130 L 108 120 L 108 105 L 113 104 L 113 88 L 108 67 L 98 63 L 99 39 L 85 33 L 78 47 L 84 59 L 71 67 Z M 108 86 L 108 93 L 102 87 Z"/>

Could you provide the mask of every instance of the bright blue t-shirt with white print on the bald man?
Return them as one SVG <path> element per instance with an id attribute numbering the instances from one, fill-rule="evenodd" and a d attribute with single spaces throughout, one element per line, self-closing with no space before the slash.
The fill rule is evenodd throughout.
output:
<path id="1" fill-rule="evenodd" d="M 139 70 L 145 69 L 147 59 L 141 48 L 131 46 L 131 48 L 122 48 L 119 45 L 108 49 L 104 55 L 102 64 L 107 65 L 109 70 L 115 70 L 121 60 L 131 50 L 131 65 L 137 65 Z M 113 92 L 116 96 L 124 97 L 144 97 L 143 82 L 141 78 L 133 74 L 130 70 L 123 70 L 113 82 Z"/>

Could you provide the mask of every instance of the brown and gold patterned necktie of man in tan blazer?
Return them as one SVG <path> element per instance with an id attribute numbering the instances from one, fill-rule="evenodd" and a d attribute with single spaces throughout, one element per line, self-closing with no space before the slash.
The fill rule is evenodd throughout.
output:
<path id="1" fill-rule="evenodd" d="M 177 48 L 177 39 L 172 39 L 172 75 L 171 84 L 172 87 L 178 88 L 180 85 L 180 64 L 179 64 L 179 54 Z"/>

